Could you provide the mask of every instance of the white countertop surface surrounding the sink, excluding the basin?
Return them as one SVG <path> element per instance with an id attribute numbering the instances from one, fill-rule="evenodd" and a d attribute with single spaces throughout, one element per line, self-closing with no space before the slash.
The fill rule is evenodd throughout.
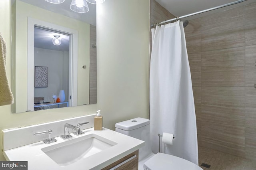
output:
<path id="1" fill-rule="evenodd" d="M 72 138 L 64 140 L 60 138 L 60 136 L 55 137 L 57 142 L 50 144 L 45 144 L 43 141 L 40 141 L 26 146 L 4 150 L 4 156 L 6 160 L 28 161 L 28 170 L 100 170 L 144 146 L 144 141 L 142 140 L 138 140 L 107 128 L 103 128 L 102 130 L 88 128 L 81 131 L 85 133 L 79 136 L 72 134 L 72 138 L 79 138 L 94 133 L 112 140 L 117 144 L 87 158 L 81 158 L 67 166 L 59 166 L 41 150 L 42 148 L 52 146 L 54 144 L 72 140 Z"/>

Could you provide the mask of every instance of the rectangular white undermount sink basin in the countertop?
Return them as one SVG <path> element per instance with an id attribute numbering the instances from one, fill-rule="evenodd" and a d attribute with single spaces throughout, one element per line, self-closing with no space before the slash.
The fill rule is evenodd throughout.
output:
<path id="1" fill-rule="evenodd" d="M 88 134 L 65 142 L 42 148 L 41 150 L 59 166 L 70 165 L 106 150 L 117 143 L 97 134 Z"/>

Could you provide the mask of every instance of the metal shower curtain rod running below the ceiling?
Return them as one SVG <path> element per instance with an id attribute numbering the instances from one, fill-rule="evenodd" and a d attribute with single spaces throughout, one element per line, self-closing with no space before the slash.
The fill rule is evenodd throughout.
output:
<path id="1" fill-rule="evenodd" d="M 246 1 L 246 0 L 237 0 L 237 1 L 235 1 L 235 2 L 230 2 L 230 3 L 228 3 L 228 4 L 216 6 L 216 7 L 214 7 L 214 8 L 209 8 L 209 9 L 207 9 L 207 10 L 202 10 L 202 11 L 199 11 L 199 12 L 194 12 L 194 13 L 192 13 L 192 14 L 188 14 L 188 15 L 184 15 L 184 16 L 178 16 L 178 17 L 173 18 L 173 19 L 170 19 L 170 20 L 165 20 L 165 21 L 162 21 L 162 22 L 155 23 L 155 24 L 151 25 L 151 28 L 154 27 L 154 26 L 159 26 L 159 25 L 162 25 L 162 24 L 166 24 L 167 22 L 176 21 L 176 20 L 179 20 L 179 19 L 182 19 L 182 18 L 186 18 L 186 17 L 188 17 L 188 16 L 193 16 L 193 15 L 201 14 L 201 13 L 204 13 L 204 12 L 216 10 L 216 9 L 218 9 L 218 8 L 223 8 L 223 7 L 226 7 L 226 6 L 238 4 L 238 3 L 244 2 L 244 1 Z"/>

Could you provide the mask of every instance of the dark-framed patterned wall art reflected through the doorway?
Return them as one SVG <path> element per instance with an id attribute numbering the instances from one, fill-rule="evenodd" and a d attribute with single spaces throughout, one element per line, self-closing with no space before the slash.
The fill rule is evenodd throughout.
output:
<path id="1" fill-rule="evenodd" d="M 48 87 L 48 67 L 35 66 L 35 87 Z"/>

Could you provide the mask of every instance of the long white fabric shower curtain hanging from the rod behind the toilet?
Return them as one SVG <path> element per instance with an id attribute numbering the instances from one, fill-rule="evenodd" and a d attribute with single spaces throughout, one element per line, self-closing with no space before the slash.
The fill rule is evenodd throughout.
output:
<path id="1" fill-rule="evenodd" d="M 183 24 L 152 29 L 150 61 L 150 133 L 158 152 L 158 133 L 174 134 L 162 152 L 198 165 L 196 114 Z"/>

